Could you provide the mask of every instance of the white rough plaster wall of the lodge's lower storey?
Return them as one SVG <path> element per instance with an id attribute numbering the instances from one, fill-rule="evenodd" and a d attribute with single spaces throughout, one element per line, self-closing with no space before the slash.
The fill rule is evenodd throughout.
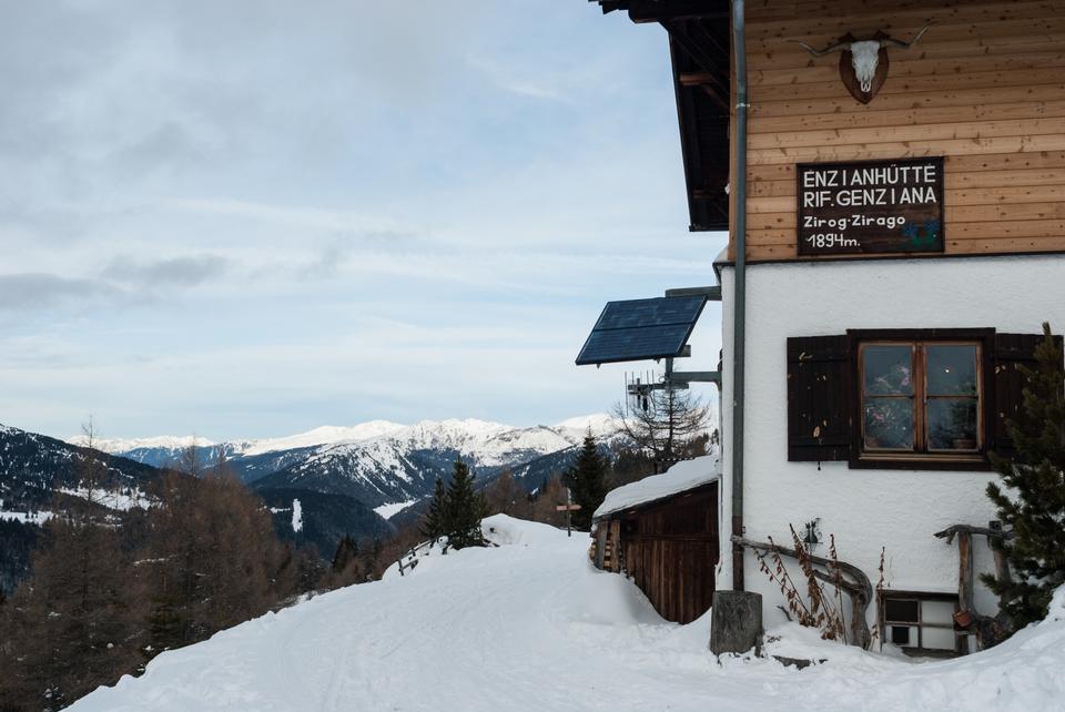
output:
<path id="1" fill-rule="evenodd" d="M 721 274 L 724 344 L 724 454 L 721 529 L 731 520 L 732 306 L 734 271 Z M 881 547 L 885 581 L 899 590 L 957 591 L 957 547 L 932 535 L 952 523 L 995 518 L 984 495 L 987 471 L 850 469 L 846 462 L 788 461 L 787 338 L 848 328 L 994 327 L 1065 329 L 1065 255 L 855 261 L 751 265 L 747 272 L 744 527 L 752 539 L 790 541 L 788 525 L 821 518 L 842 560 L 875 586 Z M 731 587 L 722 543 L 720 588 Z M 819 551 L 826 552 L 826 547 Z M 992 570 L 983 537 L 974 538 L 977 571 Z M 772 588 L 744 556 L 746 588 L 765 598 L 767 624 L 780 613 Z M 977 609 L 995 610 L 977 586 Z M 871 608 L 871 621 L 873 609 Z"/>

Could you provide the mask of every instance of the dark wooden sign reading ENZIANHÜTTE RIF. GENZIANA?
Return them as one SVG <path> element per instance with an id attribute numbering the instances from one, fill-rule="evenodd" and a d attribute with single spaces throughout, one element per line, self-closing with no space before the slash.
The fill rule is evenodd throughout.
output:
<path id="1" fill-rule="evenodd" d="M 799 254 L 943 252 L 943 157 L 800 163 Z"/>

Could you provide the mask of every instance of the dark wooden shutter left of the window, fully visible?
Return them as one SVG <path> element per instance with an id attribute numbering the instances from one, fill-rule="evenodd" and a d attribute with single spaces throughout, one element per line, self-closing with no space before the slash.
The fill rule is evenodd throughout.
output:
<path id="1" fill-rule="evenodd" d="M 845 335 L 788 339 L 789 461 L 850 459 L 853 380 Z"/>

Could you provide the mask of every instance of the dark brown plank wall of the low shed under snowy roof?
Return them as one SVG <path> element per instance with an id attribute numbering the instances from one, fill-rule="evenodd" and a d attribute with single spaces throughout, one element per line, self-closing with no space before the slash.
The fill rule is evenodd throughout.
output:
<path id="1" fill-rule="evenodd" d="M 717 482 L 600 519 L 596 563 L 629 576 L 666 620 L 710 609 L 718 563 Z"/>

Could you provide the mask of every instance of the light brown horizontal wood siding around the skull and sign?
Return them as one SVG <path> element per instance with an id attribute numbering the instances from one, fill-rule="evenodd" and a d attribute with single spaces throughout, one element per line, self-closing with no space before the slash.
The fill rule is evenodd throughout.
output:
<path id="1" fill-rule="evenodd" d="M 944 254 L 1065 251 L 1065 0 L 748 7 L 749 260 L 800 258 L 797 163 L 929 155 L 945 157 Z M 912 49 L 888 50 L 868 105 L 840 80 L 839 54 L 814 59 L 792 41 L 878 30 L 909 41 L 926 22 Z"/>

